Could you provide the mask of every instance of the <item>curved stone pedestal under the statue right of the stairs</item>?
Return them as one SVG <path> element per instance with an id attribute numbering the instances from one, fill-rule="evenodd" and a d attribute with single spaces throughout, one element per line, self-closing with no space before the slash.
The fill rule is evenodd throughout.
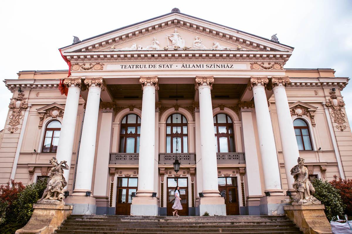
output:
<path id="1" fill-rule="evenodd" d="M 332 233 L 331 226 L 324 213 L 324 205 L 284 206 L 285 214 L 304 234 Z"/>

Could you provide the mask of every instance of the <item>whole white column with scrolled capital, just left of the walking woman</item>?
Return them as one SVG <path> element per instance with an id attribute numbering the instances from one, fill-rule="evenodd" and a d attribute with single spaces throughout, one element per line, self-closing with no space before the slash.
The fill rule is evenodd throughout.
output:
<path id="1" fill-rule="evenodd" d="M 158 215 L 154 192 L 155 163 L 155 92 L 158 89 L 156 76 L 141 76 L 142 116 L 140 121 L 140 143 L 138 162 L 138 188 L 132 199 L 131 215 Z"/>

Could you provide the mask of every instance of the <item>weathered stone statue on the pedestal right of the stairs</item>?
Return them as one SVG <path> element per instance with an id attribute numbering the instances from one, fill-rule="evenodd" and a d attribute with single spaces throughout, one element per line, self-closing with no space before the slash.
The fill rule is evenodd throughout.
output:
<path id="1" fill-rule="evenodd" d="M 320 201 L 313 196 L 315 189 L 308 179 L 308 168 L 304 166 L 304 159 L 298 157 L 297 162 L 298 164 L 291 169 L 291 175 L 293 175 L 295 179 L 293 188 L 297 192 L 292 205 L 321 204 Z"/>

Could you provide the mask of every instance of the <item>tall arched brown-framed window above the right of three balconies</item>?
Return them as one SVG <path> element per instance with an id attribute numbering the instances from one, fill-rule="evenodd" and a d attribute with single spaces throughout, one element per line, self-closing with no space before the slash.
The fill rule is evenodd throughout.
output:
<path id="1" fill-rule="evenodd" d="M 214 116 L 216 152 L 235 152 L 233 123 L 230 116 L 217 114 Z"/>

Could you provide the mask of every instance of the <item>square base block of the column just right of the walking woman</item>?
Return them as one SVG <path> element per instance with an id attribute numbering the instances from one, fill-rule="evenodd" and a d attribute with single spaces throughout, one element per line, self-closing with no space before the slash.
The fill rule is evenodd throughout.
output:
<path id="1" fill-rule="evenodd" d="M 199 215 L 208 212 L 210 216 L 226 215 L 225 200 L 222 197 L 203 197 L 199 201 Z"/>

